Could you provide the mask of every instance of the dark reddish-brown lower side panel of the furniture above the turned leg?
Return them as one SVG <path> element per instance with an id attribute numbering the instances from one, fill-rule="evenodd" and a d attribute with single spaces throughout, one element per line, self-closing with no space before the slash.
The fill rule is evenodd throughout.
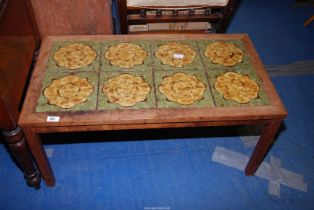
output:
<path id="1" fill-rule="evenodd" d="M 0 37 L 0 94 L 11 115 L 17 123 L 19 105 L 25 84 L 30 73 L 36 43 L 32 36 Z"/>

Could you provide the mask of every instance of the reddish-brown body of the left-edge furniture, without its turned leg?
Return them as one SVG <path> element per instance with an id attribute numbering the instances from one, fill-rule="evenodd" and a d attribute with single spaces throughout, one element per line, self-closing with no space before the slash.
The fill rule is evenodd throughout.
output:
<path id="1" fill-rule="evenodd" d="M 32 58 L 39 45 L 36 24 L 28 0 L 1 1 L 0 19 L 0 96 L 2 112 L 9 115 L 9 124 L 17 126 L 19 105 Z M 6 121 L 1 118 L 2 121 Z M 2 127 L 1 127 L 2 128 Z M 3 129 L 3 128 L 2 128 Z"/>

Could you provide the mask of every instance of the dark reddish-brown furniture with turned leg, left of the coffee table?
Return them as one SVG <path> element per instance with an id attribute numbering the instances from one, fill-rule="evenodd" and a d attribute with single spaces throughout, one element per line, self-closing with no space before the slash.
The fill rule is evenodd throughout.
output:
<path id="1" fill-rule="evenodd" d="M 0 1 L 0 130 L 29 185 L 38 187 L 40 175 L 33 165 L 23 131 L 18 126 L 24 89 L 32 59 L 40 44 L 28 0 Z"/>

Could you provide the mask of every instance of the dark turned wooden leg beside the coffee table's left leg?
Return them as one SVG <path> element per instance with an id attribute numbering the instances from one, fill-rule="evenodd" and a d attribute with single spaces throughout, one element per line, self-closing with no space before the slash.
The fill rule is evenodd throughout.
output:
<path id="1" fill-rule="evenodd" d="M 33 165 L 32 156 L 21 128 L 17 127 L 12 131 L 3 131 L 2 133 L 17 164 L 24 171 L 27 184 L 39 188 L 41 177 Z"/>

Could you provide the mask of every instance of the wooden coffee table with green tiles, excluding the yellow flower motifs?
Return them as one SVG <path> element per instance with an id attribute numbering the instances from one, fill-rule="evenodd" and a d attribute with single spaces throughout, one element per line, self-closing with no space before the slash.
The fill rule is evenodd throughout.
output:
<path id="1" fill-rule="evenodd" d="M 212 64 L 203 54 L 204 47 L 214 41 L 233 42 L 245 52 L 242 63 L 234 67 Z M 160 44 L 170 41 L 182 42 L 197 52 L 194 63 L 183 69 L 158 63 L 154 51 Z M 97 58 L 83 70 L 59 68 L 52 59 L 53 53 L 68 43 L 84 42 L 97 51 Z M 108 64 L 103 54 L 109 46 L 121 42 L 140 44 L 147 48 L 149 57 L 144 68 L 121 70 Z M 150 103 L 141 106 L 122 107 L 103 99 L 102 85 L 106 79 L 120 71 L 140 74 L 152 87 Z M 158 85 L 165 75 L 177 71 L 195 74 L 206 84 L 203 103 L 178 105 L 167 101 L 159 92 Z M 260 96 L 248 104 L 224 100 L 213 88 L 213 81 L 221 72 L 235 71 L 253 77 L 261 87 Z M 62 109 L 45 102 L 43 90 L 54 75 L 87 75 L 93 80 L 95 93 L 81 108 Z M 94 76 L 88 76 L 92 74 Z M 53 76 L 51 76 L 53 75 Z M 57 77 L 57 76 L 55 76 Z M 49 80 L 50 79 L 50 80 Z M 147 102 L 148 103 L 148 102 Z M 259 141 L 246 166 L 245 174 L 254 175 L 265 157 L 274 136 L 287 112 L 265 71 L 254 46 L 246 34 L 213 35 L 101 35 L 101 36 L 50 36 L 42 43 L 40 55 L 31 78 L 25 103 L 19 119 L 29 147 L 46 185 L 53 186 L 55 178 L 39 134 L 52 132 L 84 132 L 127 129 L 163 129 L 198 126 L 262 126 Z"/>

